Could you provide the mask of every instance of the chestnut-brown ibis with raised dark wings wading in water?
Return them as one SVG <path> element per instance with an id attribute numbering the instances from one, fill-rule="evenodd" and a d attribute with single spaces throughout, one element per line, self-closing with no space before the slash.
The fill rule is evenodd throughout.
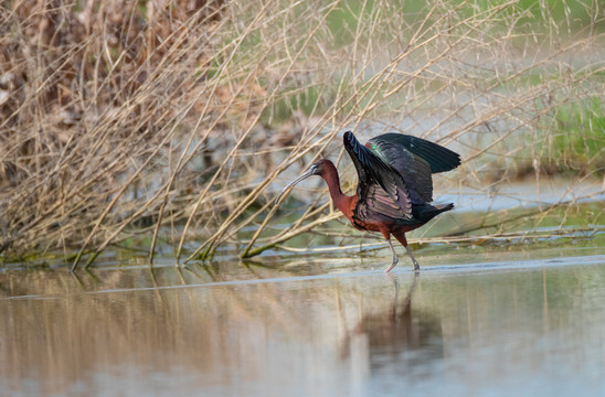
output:
<path id="1" fill-rule="evenodd" d="M 393 254 L 385 273 L 399 262 L 391 236 L 405 247 L 414 271 L 418 272 L 418 261 L 407 246 L 405 234 L 454 208 L 453 203 L 431 204 L 432 174 L 457 168 L 460 155 L 432 141 L 397 132 L 376 136 L 365 144 L 361 144 L 351 131 L 344 132 L 342 139 L 358 173 L 355 194 L 343 194 L 336 165 L 328 159 L 320 159 L 284 187 L 276 202 L 279 203 L 282 196 L 300 181 L 319 175 L 328 184 L 337 208 L 357 229 L 380 232 L 384 236 Z"/>

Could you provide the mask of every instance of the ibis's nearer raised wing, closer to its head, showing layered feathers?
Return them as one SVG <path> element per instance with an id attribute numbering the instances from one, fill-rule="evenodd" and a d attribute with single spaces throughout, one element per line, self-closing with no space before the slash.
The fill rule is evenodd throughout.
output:
<path id="1" fill-rule="evenodd" d="M 359 175 L 358 214 L 372 212 L 393 219 L 410 219 L 412 201 L 400 172 L 361 144 L 351 131 L 344 132 L 343 140 Z"/>

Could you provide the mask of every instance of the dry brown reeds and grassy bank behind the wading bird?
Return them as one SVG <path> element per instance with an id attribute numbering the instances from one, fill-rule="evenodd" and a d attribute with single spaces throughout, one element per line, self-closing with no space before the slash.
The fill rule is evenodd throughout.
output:
<path id="1" fill-rule="evenodd" d="M 599 2 L 314 4 L 2 2 L 0 255 L 208 257 L 253 226 L 252 255 L 338 217 L 267 228 L 273 182 L 344 129 L 454 147 L 444 187 L 603 175 Z"/>

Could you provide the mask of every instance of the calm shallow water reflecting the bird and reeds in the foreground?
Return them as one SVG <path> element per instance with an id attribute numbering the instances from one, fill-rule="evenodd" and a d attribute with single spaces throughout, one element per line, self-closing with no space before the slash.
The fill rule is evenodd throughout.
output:
<path id="1" fill-rule="evenodd" d="M 605 249 L 417 257 L 4 271 L 0 395 L 605 395 Z"/>

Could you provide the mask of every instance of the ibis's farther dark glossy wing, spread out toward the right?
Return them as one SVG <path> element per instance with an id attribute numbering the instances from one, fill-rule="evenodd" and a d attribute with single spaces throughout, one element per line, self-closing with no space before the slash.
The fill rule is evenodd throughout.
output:
<path id="1" fill-rule="evenodd" d="M 458 153 L 403 133 L 384 133 L 370 139 L 365 146 L 401 173 L 414 204 L 433 201 L 431 174 L 449 171 L 460 164 Z"/>

